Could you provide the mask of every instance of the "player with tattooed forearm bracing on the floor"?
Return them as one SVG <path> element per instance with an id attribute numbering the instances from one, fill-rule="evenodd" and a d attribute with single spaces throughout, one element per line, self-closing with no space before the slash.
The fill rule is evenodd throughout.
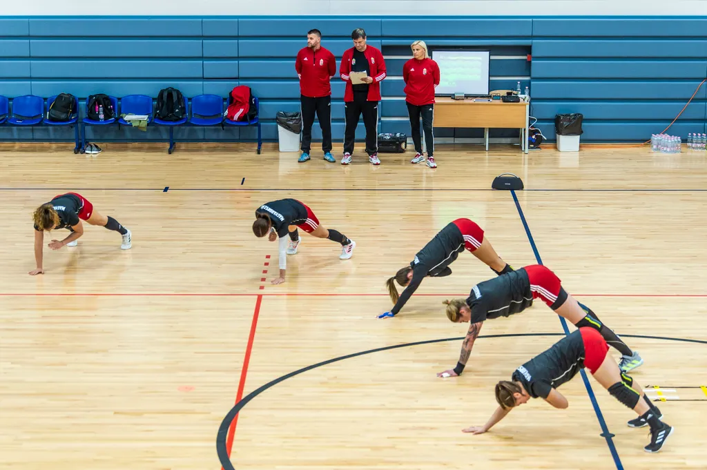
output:
<path id="1" fill-rule="evenodd" d="M 481 325 L 486 319 L 509 317 L 522 312 L 532 305 L 534 298 L 541 298 L 557 315 L 567 319 L 575 327 L 589 327 L 599 331 L 609 346 L 616 348 L 623 356 L 619 367 L 624 372 L 643 364 L 638 351 L 631 351 L 614 331 L 600 322 L 592 310 L 580 307 L 577 300 L 564 290 L 560 279 L 552 271 L 545 266 L 534 264 L 477 284 L 472 288 L 467 300 L 445 300 L 447 317 L 455 323 L 471 322 L 471 326 L 462 343 L 457 367 L 438 373 L 438 377 L 454 377 L 462 373 L 474 341 L 481 331 Z"/>

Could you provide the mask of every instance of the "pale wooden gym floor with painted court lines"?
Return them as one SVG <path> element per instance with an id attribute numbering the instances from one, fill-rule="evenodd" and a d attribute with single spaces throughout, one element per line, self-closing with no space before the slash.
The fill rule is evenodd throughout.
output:
<path id="1" fill-rule="evenodd" d="M 707 155 L 479 148 L 439 146 L 436 170 L 409 153 L 375 168 L 357 151 L 342 168 L 252 145 L 0 151 L 0 467 L 218 470 L 218 438 L 239 470 L 703 469 Z M 489 322 L 467 372 L 438 379 L 467 328 L 442 300 L 493 276 L 468 253 L 399 317 L 375 319 L 390 310 L 385 279 L 453 218 L 477 221 L 513 266 L 537 262 L 510 192 L 489 190 L 501 172 L 525 182 L 518 201 L 542 262 L 645 359 L 632 375 L 667 400 L 676 428 L 659 454 L 591 377 L 596 407 L 576 377 L 561 389 L 567 410 L 533 400 L 489 433 L 460 432 L 489 418 L 493 384 L 563 332 L 536 302 Z M 78 247 L 45 249 L 45 274 L 28 276 L 31 213 L 69 190 L 130 228 L 133 248 L 86 225 Z M 285 197 L 356 240 L 354 257 L 304 235 L 286 283 L 271 286 L 276 243 L 250 225 Z"/>

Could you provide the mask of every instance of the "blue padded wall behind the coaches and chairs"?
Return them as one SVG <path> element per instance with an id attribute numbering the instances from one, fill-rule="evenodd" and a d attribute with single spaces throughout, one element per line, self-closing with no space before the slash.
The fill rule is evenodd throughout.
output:
<path id="1" fill-rule="evenodd" d="M 311 28 L 337 57 L 354 28 L 382 49 L 380 131 L 409 132 L 402 66 L 413 40 L 491 52 L 491 89 L 530 86 L 531 114 L 554 139 L 554 115 L 585 115 L 583 141 L 642 141 L 670 124 L 707 76 L 707 18 L 104 17 L 0 18 L 0 95 L 72 93 L 155 97 L 175 86 L 187 97 L 251 86 L 261 100 L 263 138 L 275 141 L 276 112 L 299 109 L 294 57 Z M 525 59 L 532 54 L 532 61 Z M 332 79 L 334 139 L 343 139 L 344 83 Z M 704 132 L 703 86 L 671 129 Z M 87 129 L 88 139 L 166 139 L 165 129 Z M 492 129 L 491 136 L 515 136 Z M 315 137 L 320 130 L 315 124 Z M 363 124 L 358 136 L 363 137 Z M 482 129 L 436 129 L 436 136 L 478 137 Z M 178 129 L 177 139 L 255 139 L 255 129 Z M 71 140 L 71 129 L 0 126 L 2 140 Z"/>

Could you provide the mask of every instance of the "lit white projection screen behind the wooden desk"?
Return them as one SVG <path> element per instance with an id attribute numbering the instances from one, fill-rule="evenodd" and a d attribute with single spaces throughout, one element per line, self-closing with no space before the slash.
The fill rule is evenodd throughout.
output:
<path id="1" fill-rule="evenodd" d="M 434 51 L 440 68 L 436 95 L 488 95 L 489 51 Z"/>

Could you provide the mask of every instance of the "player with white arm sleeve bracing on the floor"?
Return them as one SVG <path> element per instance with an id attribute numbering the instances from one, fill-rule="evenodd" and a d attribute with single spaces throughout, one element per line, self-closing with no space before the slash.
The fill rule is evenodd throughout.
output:
<path id="1" fill-rule="evenodd" d="M 253 233 L 256 237 L 264 237 L 268 233 L 269 240 L 274 242 L 279 237 L 280 276 L 275 278 L 273 284 L 285 282 L 287 267 L 286 254 L 296 254 L 301 239 L 297 231 L 301 228 L 317 238 L 328 238 L 341 244 L 339 259 L 349 259 L 354 254 L 356 242 L 349 240 L 337 230 L 327 230 L 319 223 L 312 209 L 296 199 L 279 199 L 263 204 L 255 210 Z M 289 244 L 287 235 L 289 235 Z"/>

